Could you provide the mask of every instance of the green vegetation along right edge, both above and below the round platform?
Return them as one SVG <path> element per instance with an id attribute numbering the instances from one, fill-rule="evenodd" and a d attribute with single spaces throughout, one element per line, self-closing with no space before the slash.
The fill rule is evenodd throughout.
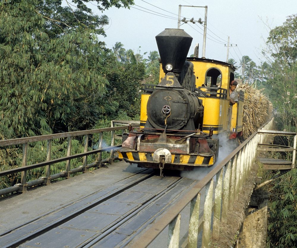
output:
<path id="1" fill-rule="evenodd" d="M 266 93 L 277 109 L 280 130 L 297 132 L 297 15 L 272 29 L 267 40 L 270 58 Z M 282 144 L 288 140 L 283 139 Z M 291 143 L 292 144 L 292 143 Z M 292 158 L 284 157 L 292 160 Z M 269 187 L 268 247 L 297 247 L 297 174 L 291 170 Z"/>

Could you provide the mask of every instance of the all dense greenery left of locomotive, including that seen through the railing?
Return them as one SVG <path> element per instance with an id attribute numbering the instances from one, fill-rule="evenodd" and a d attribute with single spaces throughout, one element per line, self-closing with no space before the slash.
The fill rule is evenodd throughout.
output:
<path id="1" fill-rule="evenodd" d="M 122 44 L 118 44 L 119 57 L 116 49 L 99 42 L 97 35 L 105 35 L 108 17 L 93 15 L 86 3 L 1 1 L 0 139 L 102 128 L 112 119 L 139 119 L 141 81 L 150 72 L 149 63 Z M 133 1 L 97 3 L 103 11 L 128 7 Z M 61 152 L 66 143 L 53 141 L 53 158 L 65 155 Z M 73 140 L 72 152 L 81 152 L 82 144 Z M 0 150 L 1 170 L 21 164 L 22 147 L 6 148 Z M 45 152 L 44 142 L 30 144 L 28 163 L 44 161 Z M 61 163 L 52 168 L 54 174 L 65 167 Z M 39 177 L 42 169 L 29 177 Z M 14 185 L 19 178 L 18 174 L 2 178 L 1 187 Z"/>

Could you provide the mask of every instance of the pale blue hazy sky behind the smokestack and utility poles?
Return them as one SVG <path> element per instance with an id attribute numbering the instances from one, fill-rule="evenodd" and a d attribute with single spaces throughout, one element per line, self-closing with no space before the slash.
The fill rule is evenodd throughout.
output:
<path id="1" fill-rule="evenodd" d="M 110 18 L 110 23 L 105 26 L 107 37 L 100 36 L 99 39 L 108 48 L 121 42 L 126 50 L 132 49 L 134 53 L 158 50 L 155 36 L 165 28 L 178 27 L 179 5 L 182 5 L 181 19 L 201 18 L 202 21 L 205 21 L 207 6 L 205 57 L 226 61 L 229 36 L 232 47 L 228 58 L 236 60 L 236 65 L 243 55 L 248 55 L 257 65 L 265 61 L 261 51 L 270 28 L 281 26 L 287 16 L 297 12 L 297 0 L 134 0 L 134 3 L 130 9 L 112 7 L 103 12 Z M 94 14 L 102 15 L 94 5 L 90 7 Z M 204 26 L 198 22 L 181 24 L 180 28 L 193 37 L 188 55 L 194 53 L 195 45 L 199 43 L 201 57 Z"/>

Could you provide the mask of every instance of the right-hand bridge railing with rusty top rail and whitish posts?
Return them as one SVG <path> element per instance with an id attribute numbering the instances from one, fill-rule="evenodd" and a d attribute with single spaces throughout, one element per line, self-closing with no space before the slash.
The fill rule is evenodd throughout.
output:
<path id="1" fill-rule="evenodd" d="M 273 118 L 260 129 L 269 130 L 272 124 Z M 188 191 L 177 204 L 168 209 L 159 220 L 139 235 L 130 247 L 147 247 L 167 226 L 168 247 L 179 247 L 181 211 L 189 203 L 187 247 L 197 247 L 198 234 L 201 231 L 202 247 L 209 247 L 211 236 L 219 238 L 220 225 L 227 222 L 228 211 L 233 210 L 233 203 L 242 192 L 255 161 L 257 143 L 258 132 L 255 132 Z M 200 196 L 203 190 L 205 190 L 205 200 L 202 206 L 203 218 L 200 219 Z"/>

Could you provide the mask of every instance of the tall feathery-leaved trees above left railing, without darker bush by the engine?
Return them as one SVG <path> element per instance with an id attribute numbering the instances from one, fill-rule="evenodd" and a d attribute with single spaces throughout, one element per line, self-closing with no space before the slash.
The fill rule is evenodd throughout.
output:
<path id="1" fill-rule="evenodd" d="M 97 34 L 105 35 L 108 18 L 93 15 L 87 2 L 67 1 L 63 7 L 61 0 L 1 1 L 2 136 L 71 130 L 72 116 L 106 92 L 108 80 L 99 70 L 106 50 Z M 97 1 L 100 10 L 132 3 Z"/>

